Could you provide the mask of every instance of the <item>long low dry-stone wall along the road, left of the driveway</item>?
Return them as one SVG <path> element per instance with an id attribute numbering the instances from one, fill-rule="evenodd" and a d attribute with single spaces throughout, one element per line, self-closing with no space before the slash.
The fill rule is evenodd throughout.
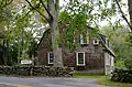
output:
<path id="1" fill-rule="evenodd" d="M 74 69 L 70 67 L 52 66 L 0 66 L 0 75 L 19 76 L 73 76 Z"/>

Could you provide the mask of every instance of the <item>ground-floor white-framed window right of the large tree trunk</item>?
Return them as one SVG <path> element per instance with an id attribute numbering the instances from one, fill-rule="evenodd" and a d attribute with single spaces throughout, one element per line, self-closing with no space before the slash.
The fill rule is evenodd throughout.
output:
<path id="1" fill-rule="evenodd" d="M 85 52 L 77 52 L 76 59 L 77 59 L 78 66 L 84 66 L 85 65 Z"/>

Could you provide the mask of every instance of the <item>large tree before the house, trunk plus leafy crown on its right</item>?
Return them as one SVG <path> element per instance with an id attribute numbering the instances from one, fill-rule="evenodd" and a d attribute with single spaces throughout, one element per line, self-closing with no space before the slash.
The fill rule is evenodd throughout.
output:
<path id="1" fill-rule="evenodd" d="M 59 18 L 59 0 L 25 0 L 32 9 L 37 11 L 43 19 L 45 19 L 52 31 L 52 46 L 55 55 L 54 66 L 61 67 L 63 66 L 62 59 L 62 48 L 59 43 L 59 30 L 58 30 L 58 18 Z M 59 23 L 63 24 L 69 23 L 68 28 L 70 30 L 68 32 L 81 32 L 85 33 L 87 24 L 94 25 L 95 29 L 99 28 L 98 22 L 100 20 L 110 19 L 110 15 L 114 14 L 112 10 L 114 7 L 109 8 L 109 0 L 70 0 L 64 8 L 65 12 L 62 13 L 62 19 Z M 96 11 L 100 12 L 96 12 Z M 95 11 L 95 12 L 94 12 Z M 67 13 L 67 14 L 66 14 Z M 66 17 L 65 17 L 66 14 Z M 70 19 L 69 19 L 69 18 Z M 67 21 L 65 21 L 65 19 Z M 69 33 L 70 35 L 72 33 Z M 75 33 L 77 34 L 77 33 Z M 74 34 L 73 34 L 74 35 Z M 73 37 L 74 39 L 74 37 Z M 70 40 L 70 39 L 69 39 Z M 72 41 L 72 40 L 70 40 Z"/>

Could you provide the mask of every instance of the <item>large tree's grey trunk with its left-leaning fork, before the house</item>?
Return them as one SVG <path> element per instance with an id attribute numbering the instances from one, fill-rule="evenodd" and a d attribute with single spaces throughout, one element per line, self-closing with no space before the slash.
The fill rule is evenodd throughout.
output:
<path id="1" fill-rule="evenodd" d="M 58 17 L 59 17 L 59 0 L 33 0 L 33 1 L 29 1 L 25 0 L 30 7 L 32 9 L 35 9 L 40 15 L 43 17 L 43 19 L 45 19 L 48 24 L 50 24 L 50 29 L 51 29 L 51 33 L 52 33 L 52 47 L 53 47 L 53 52 L 54 52 L 54 66 L 55 67 L 63 67 L 63 58 L 62 58 L 62 48 L 58 45 L 58 35 L 59 35 L 59 31 L 58 31 Z M 36 3 L 36 6 L 33 6 L 33 2 Z M 44 9 L 44 11 L 40 11 L 38 7 L 42 7 L 41 9 Z M 48 17 L 46 17 L 45 14 L 48 14 Z"/>

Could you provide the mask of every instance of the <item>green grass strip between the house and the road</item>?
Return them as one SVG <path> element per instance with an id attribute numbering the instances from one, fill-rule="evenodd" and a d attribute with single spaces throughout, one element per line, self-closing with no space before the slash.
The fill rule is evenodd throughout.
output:
<path id="1" fill-rule="evenodd" d="M 75 77 L 76 78 L 91 78 L 91 79 L 96 78 L 96 79 L 99 79 L 99 81 L 97 81 L 97 84 L 99 85 L 132 87 L 132 84 L 110 81 L 109 80 L 110 76 L 75 74 Z"/>

